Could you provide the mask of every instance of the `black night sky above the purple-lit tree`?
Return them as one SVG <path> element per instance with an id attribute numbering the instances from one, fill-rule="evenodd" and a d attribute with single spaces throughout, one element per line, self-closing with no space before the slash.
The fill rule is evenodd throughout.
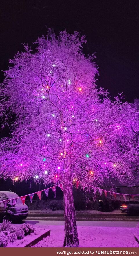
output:
<path id="1" fill-rule="evenodd" d="M 85 54 L 96 53 L 97 84 L 112 96 L 118 92 L 132 102 L 139 97 L 139 1 L 137 0 L 1 0 L 0 70 L 47 27 L 56 34 L 79 31 L 87 37 Z M 1 73 L 1 79 L 3 75 Z"/>

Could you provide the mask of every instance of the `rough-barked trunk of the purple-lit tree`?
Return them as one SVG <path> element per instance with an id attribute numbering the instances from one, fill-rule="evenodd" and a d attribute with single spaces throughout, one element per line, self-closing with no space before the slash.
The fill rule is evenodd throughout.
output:
<path id="1" fill-rule="evenodd" d="M 64 246 L 79 247 L 69 159 L 66 159 L 66 163 L 65 163 L 63 196 L 64 196 L 64 216 L 65 216 Z"/>

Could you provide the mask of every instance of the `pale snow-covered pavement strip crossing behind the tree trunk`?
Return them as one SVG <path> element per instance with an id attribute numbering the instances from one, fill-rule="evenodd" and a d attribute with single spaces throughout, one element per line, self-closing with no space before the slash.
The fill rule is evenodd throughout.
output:
<path id="1" fill-rule="evenodd" d="M 23 222 L 37 226 L 64 226 L 64 221 L 25 220 Z M 77 226 L 135 228 L 137 223 L 138 221 L 77 221 Z"/>

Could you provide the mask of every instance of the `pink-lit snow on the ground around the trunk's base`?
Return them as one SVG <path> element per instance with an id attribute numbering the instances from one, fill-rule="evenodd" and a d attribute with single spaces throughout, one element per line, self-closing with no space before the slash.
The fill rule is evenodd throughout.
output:
<path id="1" fill-rule="evenodd" d="M 41 228 L 45 226 L 41 225 Z M 46 226 L 51 235 L 43 238 L 34 247 L 63 247 L 64 226 Z M 78 226 L 80 247 L 139 247 L 133 233 L 138 228 Z"/>

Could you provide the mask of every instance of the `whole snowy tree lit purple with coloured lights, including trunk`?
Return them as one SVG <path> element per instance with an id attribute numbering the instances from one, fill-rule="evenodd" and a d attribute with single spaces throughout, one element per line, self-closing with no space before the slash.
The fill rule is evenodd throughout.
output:
<path id="1" fill-rule="evenodd" d="M 111 177 L 133 181 L 138 164 L 138 112 L 122 95 L 111 101 L 96 87 L 85 42 L 64 31 L 39 38 L 35 52 L 24 45 L 1 89 L 3 126 L 15 115 L 11 137 L 1 142 L 1 177 L 63 182 L 64 246 L 70 247 L 79 246 L 73 179 L 98 186 Z"/>

